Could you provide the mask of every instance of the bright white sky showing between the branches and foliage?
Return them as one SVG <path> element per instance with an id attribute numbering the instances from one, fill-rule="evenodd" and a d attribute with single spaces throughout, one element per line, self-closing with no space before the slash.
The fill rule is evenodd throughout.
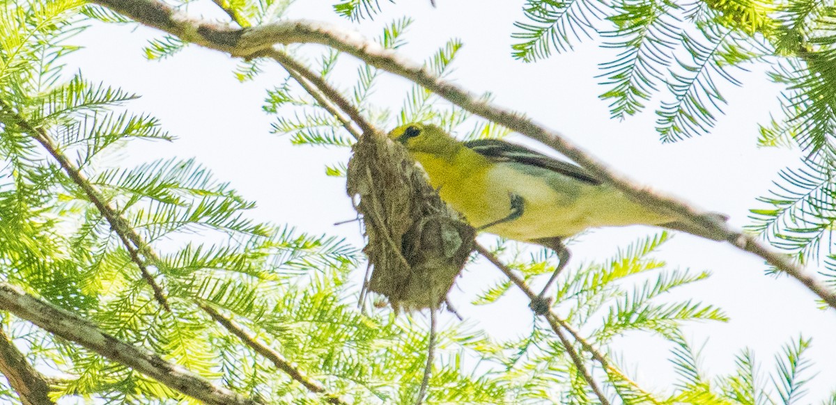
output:
<path id="1" fill-rule="evenodd" d="M 351 27 L 334 16 L 332 3 L 298 2 L 291 8 L 291 17 Z M 777 170 L 797 165 L 795 151 L 756 147 L 757 122 L 766 122 L 770 112 L 777 112 L 777 87 L 768 84 L 762 73 L 740 75 L 745 83 L 742 89 L 725 89 L 730 105 L 712 134 L 663 145 L 653 129 L 653 103 L 648 114 L 638 118 L 625 122 L 609 119 L 607 104 L 598 99 L 604 88 L 594 76 L 599 74 L 596 63 L 609 60 L 610 51 L 590 41 L 573 53 L 538 63 L 511 58 L 512 23 L 522 17 L 523 2 L 439 0 L 436 9 L 428 0 L 380 3 L 385 13 L 359 27 L 367 36 L 376 36 L 392 18 L 411 16 L 415 23 L 406 36 L 410 44 L 401 52 L 418 60 L 430 56 L 446 39 L 461 38 L 464 48 L 451 74 L 456 83 L 474 92 L 492 92 L 497 104 L 524 111 L 567 134 L 611 167 L 655 190 L 730 215 L 734 226 L 748 223 L 747 210 L 758 206 L 755 198 L 770 188 Z M 189 11 L 223 18 L 205 6 L 196 3 Z M 269 134 L 273 118 L 261 107 L 265 89 L 283 79 L 281 70 L 268 69 L 255 82 L 240 84 L 232 74 L 235 62 L 222 53 L 197 47 L 162 62 L 148 62 L 140 48 L 155 35 L 159 34 L 148 28 L 97 24 L 74 39 L 85 49 L 69 58 L 69 71 L 80 69 L 90 80 L 141 94 L 130 109 L 155 115 L 179 138 L 173 144 L 130 144 L 109 163 L 127 165 L 158 157 L 194 156 L 220 180 L 231 181 L 242 195 L 256 200 L 258 208 L 252 215 L 257 219 L 296 225 L 311 233 L 342 235 L 362 246 L 356 225 L 334 226 L 354 218 L 344 180 L 324 175 L 324 165 L 344 161 L 348 151 L 295 147 L 287 137 Z M 344 66 L 351 66 L 350 57 L 343 58 Z M 348 89 L 351 84 L 347 79 L 339 87 Z M 381 82 L 377 96 L 395 103 L 396 111 L 404 86 L 400 78 Z M 619 247 L 652 232 L 638 226 L 596 230 L 571 246 L 573 261 L 569 266 L 609 257 Z M 836 381 L 836 370 L 827 367 L 836 362 L 836 347 L 830 343 L 836 336 L 836 312 L 819 310 L 813 295 L 797 281 L 765 276 L 766 266 L 756 257 L 691 235 L 676 235 L 656 257 L 669 261 L 670 268 L 713 272 L 709 280 L 683 288 L 675 296 L 715 304 L 732 318 L 725 324 L 687 328 L 697 347 L 706 342 L 704 366 L 709 372 L 730 372 L 732 356 L 742 347 L 754 349 L 762 372 L 770 371 L 772 353 L 801 333 L 813 337 L 809 353 L 815 362 L 813 370 L 819 372 L 804 402 L 823 399 L 836 388 L 829 383 Z M 357 275 L 358 283 L 360 277 Z M 468 304 L 481 288 L 500 277 L 490 266 L 472 266 L 459 279 L 451 300 L 470 324 L 495 337 L 526 334 L 532 316 L 528 302 L 516 291 L 497 305 Z M 669 386 L 669 347 L 660 345 L 659 338 L 630 334 L 616 342 L 626 370 L 634 376 L 637 372 L 643 387 Z"/>

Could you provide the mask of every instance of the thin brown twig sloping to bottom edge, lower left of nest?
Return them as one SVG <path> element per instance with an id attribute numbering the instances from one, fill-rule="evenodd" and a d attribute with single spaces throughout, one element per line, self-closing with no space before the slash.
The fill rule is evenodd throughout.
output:
<path id="1" fill-rule="evenodd" d="M 232 319 L 227 316 L 223 316 L 220 312 L 216 311 L 215 308 L 212 308 L 212 306 L 203 304 L 200 304 L 200 306 L 203 311 L 206 311 L 209 316 L 212 316 L 212 319 L 221 324 L 221 326 L 227 329 L 227 331 L 241 339 L 242 342 L 252 348 L 252 350 L 267 358 L 270 362 L 273 362 L 276 368 L 302 384 L 305 388 L 308 388 L 308 391 L 324 396 L 325 402 L 334 403 L 335 405 L 347 405 L 346 402 L 340 400 L 339 397 L 329 394 L 322 384 L 305 377 L 302 372 L 300 372 L 296 367 L 293 367 L 293 364 L 285 360 L 281 354 L 264 345 L 262 342 L 258 342 L 255 337 L 250 335 L 235 321 L 232 321 Z"/>

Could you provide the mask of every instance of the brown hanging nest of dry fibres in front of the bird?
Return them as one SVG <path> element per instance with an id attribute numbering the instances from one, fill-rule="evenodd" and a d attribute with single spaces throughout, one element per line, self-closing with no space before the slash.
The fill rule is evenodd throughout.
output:
<path id="1" fill-rule="evenodd" d="M 476 231 L 451 210 L 404 148 L 376 134 L 354 144 L 347 188 L 362 215 L 371 276 L 364 289 L 395 311 L 435 309 L 446 301 L 475 247 Z"/>

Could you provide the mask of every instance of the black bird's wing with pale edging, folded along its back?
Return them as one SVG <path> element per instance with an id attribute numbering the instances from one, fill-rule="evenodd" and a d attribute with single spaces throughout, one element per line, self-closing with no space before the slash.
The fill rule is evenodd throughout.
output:
<path id="1" fill-rule="evenodd" d="M 594 175 L 579 165 L 573 165 L 535 152 L 518 144 L 510 144 L 499 139 L 477 139 L 464 143 L 469 149 L 491 159 L 494 162 L 516 162 L 523 165 L 536 166 L 551 170 L 559 175 L 565 175 L 591 185 L 601 184 Z"/>

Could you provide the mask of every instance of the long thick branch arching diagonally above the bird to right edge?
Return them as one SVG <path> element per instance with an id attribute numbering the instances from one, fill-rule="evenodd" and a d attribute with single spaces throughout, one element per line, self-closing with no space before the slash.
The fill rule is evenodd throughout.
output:
<path id="1" fill-rule="evenodd" d="M 428 72 L 421 64 L 401 57 L 393 50 L 381 47 L 363 38 L 359 33 L 345 31 L 329 23 L 308 20 L 287 20 L 252 28 L 237 28 L 189 18 L 185 13 L 159 0 L 92 0 L 92 2 L 149 27 L 176 35 L 186 42 L 226 52 L 233 57 L 253 58 L 273 48 L 273 45 L 290 43 L 320 43 L 354 55 L 376 68 L 382 68 L 419 84 L 472 114 L 502 124 L 508 129 L 547 144 L 642 204 L 678 215 L 684 220 L 699 225 L 712 238 L 726 240 L 742 251 L 762 257 L 772 266 L 803 283 L 829 306 L 836 308 L 836 291 L 825 286 L 817 277 L 788 256 L 767 248 L 754 235 L 746 235 L 741 230 L 732 229 L 721 220 L 706 215 L 701 210 L 696 210 L 684 201 L 636 184 L 610 170 L 607 165 L 583 149 L 569 143 L 563 134 L 547 129 L 510 109 L 480 101 L 467 90 Z"/>

